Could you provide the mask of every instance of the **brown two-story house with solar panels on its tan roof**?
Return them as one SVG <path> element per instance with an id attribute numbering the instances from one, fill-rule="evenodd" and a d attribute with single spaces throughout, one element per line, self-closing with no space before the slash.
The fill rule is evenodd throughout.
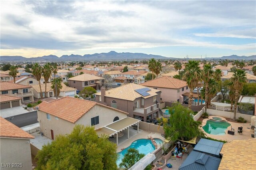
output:
<path id="1" fill-rule="evenodd" d="M 114 89 L 95 93 L 95 101 L 129 113 L 129 117 L 144 122 L 158 117 L 160 90 L 129 83 Z"/>

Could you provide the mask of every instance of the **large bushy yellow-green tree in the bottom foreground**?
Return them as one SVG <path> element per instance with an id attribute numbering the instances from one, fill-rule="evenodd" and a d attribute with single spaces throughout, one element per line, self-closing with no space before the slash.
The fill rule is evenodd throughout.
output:
<path id="1" fill-rule="evenodd" d="M 100 137 L 94 127 L 76 125 L 70 134 L 58 135 L 38 151 L 38 170 L 117 170 L 116 144 Z"/>

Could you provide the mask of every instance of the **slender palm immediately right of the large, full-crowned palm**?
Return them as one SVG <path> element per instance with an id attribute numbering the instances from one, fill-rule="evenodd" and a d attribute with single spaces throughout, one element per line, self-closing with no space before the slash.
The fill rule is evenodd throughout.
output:
<path id="1" fill-rule="evenodd" d="M 208 92 L 209 92 L 209 81 L 213 76 L 212 66 L 210 64 L 205 64 L 203 69 L 203 80 L 205 86 L 205 103 L 208 103 Z M 205 107 L 205 111 L 207 111 L 208 105 Z"/>

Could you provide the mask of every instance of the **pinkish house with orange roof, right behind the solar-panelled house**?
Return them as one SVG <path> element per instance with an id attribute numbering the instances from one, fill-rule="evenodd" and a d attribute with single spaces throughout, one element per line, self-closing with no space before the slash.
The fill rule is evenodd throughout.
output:
<path id="1" fill-rule="evenodd" d="M 141 85 L 160 90 L 162 92 L 161 100 L 168 102 L 178 101 L 180 103 L 183 103 L 183 95 L 190 91 L 186 81 L 174 79 L 169 76 L 163 76 L 157 79 L 146 81 Z"/>

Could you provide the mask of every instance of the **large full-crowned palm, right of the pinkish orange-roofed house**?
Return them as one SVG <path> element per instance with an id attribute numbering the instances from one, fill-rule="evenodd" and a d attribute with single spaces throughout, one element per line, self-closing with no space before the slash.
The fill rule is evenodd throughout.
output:
<path id="1" fill-rule="evenodd" d="M 185 73 L 182 77 L 184 81 L 187 82 L 190 88 L 188 107 L 191 109 L 193 90 L 198 85 L 198 81 L 201 77 L 201 71 L 199 67 L 199 62 L 195 60 L 190 60 L 185 65 Z"/>

